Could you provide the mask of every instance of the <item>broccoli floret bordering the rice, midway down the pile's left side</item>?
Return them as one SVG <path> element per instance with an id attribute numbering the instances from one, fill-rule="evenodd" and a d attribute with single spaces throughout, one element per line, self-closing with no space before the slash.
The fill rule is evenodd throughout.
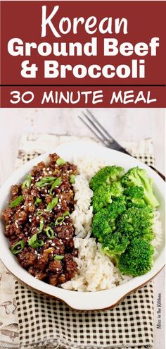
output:
<path id="1" fill-rule="evenodd" d="M 115 231 L 116 219 L 126 209 L 123 197 L 116 197 L 112 204 L 101 209 L 94 215 L 92 221 L 92 233 L 101 243 L 106 236 Z"/>

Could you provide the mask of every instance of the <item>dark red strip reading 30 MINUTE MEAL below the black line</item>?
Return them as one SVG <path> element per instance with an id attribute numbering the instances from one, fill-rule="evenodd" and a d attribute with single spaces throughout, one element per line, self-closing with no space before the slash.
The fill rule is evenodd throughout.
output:
<path id="1" fill-rule="evenodd" d="M 155 108 L 165 107 L 161 87 L 3 87 L 2 107 L 20 108 Z"/>

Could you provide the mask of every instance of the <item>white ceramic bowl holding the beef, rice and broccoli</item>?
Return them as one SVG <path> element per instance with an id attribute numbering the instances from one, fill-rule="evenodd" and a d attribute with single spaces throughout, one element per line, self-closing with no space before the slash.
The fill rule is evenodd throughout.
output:
<path id="1" fill-rule="evenodd" d="M 51 153 L 57 152 L 60 157 L 68 161 L 72 161 L 73 155 L 75 158 L 80 157 L 91 157 L 92 159 L 102 159 L 110 161 L 110 164 L 115 164 L 117 166 L 124 167 L 125 171 L 134 166 L 139 166 L 146 169 L 148 176 L 153 178 L 155 195 L 158 197 L 160 202 L 160 219 L 162 221 L 162 228 L 165 227 L 165 182 L 158 176 L 155 171 L 143 164 L 141 161 L 130 157 L 127 154 L 117 152 L 106 147 L 101 147 L 93 142 L 80 141 L 80 142 L 70 142 L 65 143 L 53 149 Z M 30 172 L 32 166 L 38 164 L 39 161 L 45 161 L 48 154 L 41 155 L 37 159 L 27 162 L 27 164 L 16 170 L 6 183 L 1 187 L 0 190 L 0 212 L 4 209 L 8 202 L 8 195 L 10 192 L 11 185 L 19 183 L 25 178 L 25 175 Z M 97 292 L 76 292 L 70 290 L 63 290 L 63 288 L 58 288 L 51 286 L 44 281 L 39 281 L 32 275 L 23 269 L 16 257 L 14 257 L 8 248 L 8 240 L 4 235 L 4 225 L 0 222 L 0 234 L 1 234 L 1 245 L 0 245 L 0 258 L 4 263 L 8 271 L 18 278 L 21 282 L 25 283 L 30 288 L 34 288 L 37 292 L 45 293 L 54 298 L 58 298 L 67 303 L 70 307 L 75 310 L 102 310 L 106 308 L 113 307 L 128 293 L 132 292 L 136 288 L 139 288 L 144 283 L 149 281 L 153 276 L 158 274 L 160 269 L 165 263 L 165 234 L 163 233 L 163 240 L 158 255 L 155 258 L 153 268 L 147 274 L 139 277 L 132 278 L 132 280 L 126 283 L 111 288 L 110 290 L 102 290 Z"/>

